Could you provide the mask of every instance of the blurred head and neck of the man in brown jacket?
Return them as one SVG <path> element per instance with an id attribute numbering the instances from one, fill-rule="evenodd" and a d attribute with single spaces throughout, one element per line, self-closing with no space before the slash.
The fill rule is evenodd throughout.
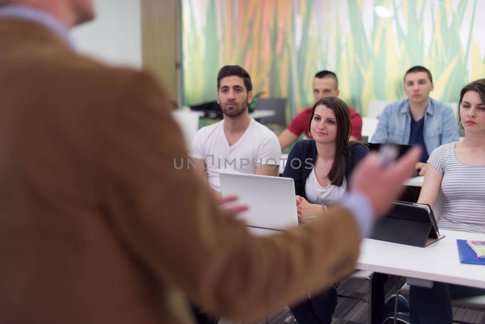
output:
<path id="1" fill-rule="evenodd" d="M 93 0 L 0 0 L 0 6 L 3 5 L 19 5 L 45 11 L 68 28 L 95 17 Z"/>

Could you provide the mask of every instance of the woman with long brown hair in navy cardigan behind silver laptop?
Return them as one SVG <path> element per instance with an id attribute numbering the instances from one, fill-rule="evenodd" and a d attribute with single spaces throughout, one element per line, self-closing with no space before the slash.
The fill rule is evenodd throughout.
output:
<path id="1" fill-rule="evenodd" d="M 295 183 L 298 216 L 323 215 L 349 189 L 355 166 L 369 154 L 358 141 L 349 141 L 350 113 L 337 97 L 325 97 L 313 106 L 308 124 L 312 140 L 297 142 L 288 156 L 283 177 Z M 335 288 L 312 294 L 291 307 L 299 324 L 329 324 L 337 307 Z"/>

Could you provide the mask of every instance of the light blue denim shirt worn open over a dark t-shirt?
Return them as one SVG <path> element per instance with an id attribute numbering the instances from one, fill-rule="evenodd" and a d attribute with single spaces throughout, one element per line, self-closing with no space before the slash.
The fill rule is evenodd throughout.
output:
<path id="1" fill-rule="evenodd" d="M 377 130 L 372 136 L 372 143 L 408 144 L 411 132 L 411 113 L 409 99 L 388 104 L 379 116 Z M 458 123 L 452 107 L 429 98 L 424 114 L 424 145 L 428 154 L 443 144 L 456 142 Z"/>

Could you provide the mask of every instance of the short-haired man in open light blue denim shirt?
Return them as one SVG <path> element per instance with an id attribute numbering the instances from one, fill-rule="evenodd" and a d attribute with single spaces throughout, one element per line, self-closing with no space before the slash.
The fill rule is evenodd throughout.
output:
<path id="1" fill-rule="evenodd" d="M 436 147 L 460 138 L 453 109 L 429 97 L 433 87 L 427 68 L 413 66 L 407 70 L 404 92 L 408 98 L 386 106 L 372 136 L 373 143 L 420 144 L 423 153 L 416 163 L 420 176 L 424 175 L 428 157 Z"/>

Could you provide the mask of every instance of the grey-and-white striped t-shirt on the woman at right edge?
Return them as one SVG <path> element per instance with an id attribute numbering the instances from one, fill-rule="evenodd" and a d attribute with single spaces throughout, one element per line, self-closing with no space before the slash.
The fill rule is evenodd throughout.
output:
<path id="1" fill-rule="evenodd" d="M 439 146 L 428 159 L 428 163 L 443 174 L 441 190 L 445 207 L 438 227 L 485 233 L 485 165 L 459 162 L 454 151 L 455 144 Z"/>

